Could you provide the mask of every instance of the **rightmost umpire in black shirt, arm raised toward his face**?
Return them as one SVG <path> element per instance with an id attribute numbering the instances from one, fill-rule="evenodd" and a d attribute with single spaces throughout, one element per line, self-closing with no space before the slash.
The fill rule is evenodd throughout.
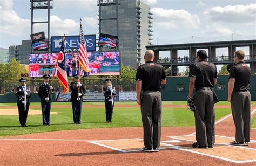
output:
<path id="1" fill-rule="evenodd" d="M 235 124 L 235 141 L 230 144 L 247 146 L 250 142 L 251 128 L 251 69 L 244 62 L 245 52 L 234 52 L 235 65 L 230 67 L 228 81 L 228 102 L 231 102 L 233 120 Z"/>

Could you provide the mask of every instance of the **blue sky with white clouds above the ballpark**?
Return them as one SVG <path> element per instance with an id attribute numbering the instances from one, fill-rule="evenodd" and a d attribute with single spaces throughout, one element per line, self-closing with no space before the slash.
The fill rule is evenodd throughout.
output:
<path id="1" fill-rule="evenodd" d="M 256 35 L 256 0 L 143 2 L 151 6 L 153 13 L 153 44 L 187 43 L 192 36 L 197 41 L 207 41 L 214 37 L 229 39 L 231 33 L 239 34 L 235 37 L 241 39 Z M 97 0 L 53 0 L 51 3 L 51 36 L 78 35 L 80 18 L 84 34 L 98 33 Z M 7 49 L 30 39 L 30 12 L 30 0 L 0 0 L 0 47 Z M 46 20 L 47 10 L 35 10 L 34 17 L 36 21 Z M 48 36 L 46 25 L 35 24 L 34 32 L 45 31 Z"/>

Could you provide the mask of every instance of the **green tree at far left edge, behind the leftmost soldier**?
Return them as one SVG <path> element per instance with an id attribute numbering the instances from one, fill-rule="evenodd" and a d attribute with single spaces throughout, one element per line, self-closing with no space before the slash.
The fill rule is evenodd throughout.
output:
<path id="1" fill-rule="evenodd" d="M 0 64 L 0 80 L 17 80 L 21 78 L 22 73 L 28 73 L 25 65 L 22 65 L 15 58 L 10 63 Z"/>

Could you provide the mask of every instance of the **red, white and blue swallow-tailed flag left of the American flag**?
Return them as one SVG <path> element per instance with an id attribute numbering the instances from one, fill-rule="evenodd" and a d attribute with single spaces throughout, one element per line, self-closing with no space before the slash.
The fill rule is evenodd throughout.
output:
<path id="1" fill-rule="evenodd" d="M 59 80 L 59 84 L 64 87 L 63 92 L 67 93 L 69 92 L 69 86 L 68 86 L 68 77 L 66 75 L 66 60 L 65 60 L 64 44 L 65 44 L 65 35 L 62 38 L 62 46 L 60 47 L 60 51 L 59 51 L 57 78 Z"/>

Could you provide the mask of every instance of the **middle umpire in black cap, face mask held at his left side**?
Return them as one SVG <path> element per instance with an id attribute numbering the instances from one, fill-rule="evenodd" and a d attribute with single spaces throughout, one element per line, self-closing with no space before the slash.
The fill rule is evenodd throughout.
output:
<path id="1" fill-rule="evenodd" d="M 213 148 L 215 143 L 215 112 L 213 87 L 217 82 L 217 68 L 207 62 L 205 50 L 197 52 L 197 62 L 189 67 L 190 87 L 188 98 L 194 101 L 196 110 L 196 140 L 193 148 Z M 194 88 L 196 91 L 192 93 Z"/>

